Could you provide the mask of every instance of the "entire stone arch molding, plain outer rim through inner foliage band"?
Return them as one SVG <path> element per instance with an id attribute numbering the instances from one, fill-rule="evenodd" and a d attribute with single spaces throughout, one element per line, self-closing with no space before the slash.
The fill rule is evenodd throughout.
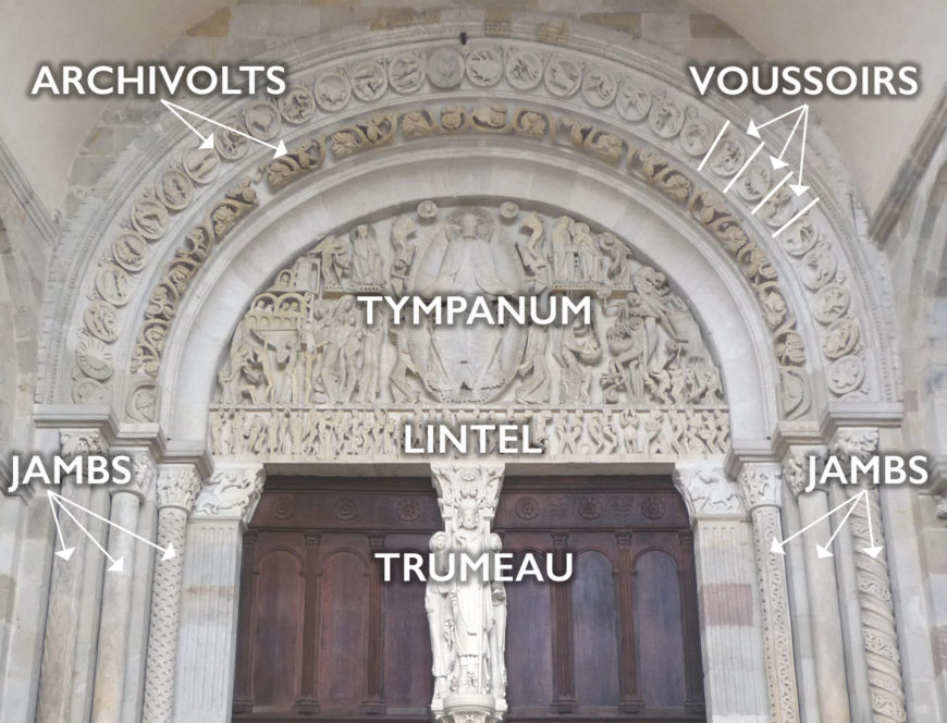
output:
<path id="1" fill-rule="evenodd" d="M 833 400 L 893 397 L 884 320 L 868 311 L 881 307 L 878 284 L 850 211 L 841 210 L 846 186 L 826 170 L 837 166 L 831 148 L 821 143 L 822 152 L 812 154 L 820 205 L 774 240 L 800 201 L 777 193 L 750 215 L 775 183 L 763 164 L 723 193 L 751 150 L 749 138 L 728 133 L 696 170 L 725 118 L 746 125 L 742 107 L 694 100 L 681 64 L 666 53 L 655 62 L 634 49 L 616 52 L 601 28 L 598 39 L 574 32 L 553 46 L 537 39 L 542 34 L 530 19 L 502 34 L 481 27 L 482 37 L 470 33 L 459 14 L 436 28 L 377 33 L 370 41 L 336 34 L 313 42 L 318 56 L 290 59 L 293 84 L 276 102 L 200 107 L 261 139 L 284 138 L 290 152 L 282 159 L 267 161 L 229 134 L 218 134 L 211 151 L 177 135 L 175 144 L 165 136 L 151 146 L 148 158 L 162 159 L 157 167 L 118 164 L 115 194 L 85 210 L 89 233 L 81 243 L 99 250 L 82 255 L 90 261 L 75 266 L 52 311 L 62 320 L 53 326 L 70 331 L 52 340 L 46 401 L 112 400 L 134 420 L 155 420 L 179 308 L 249 219 L 322 176 L 350 173 L 356 160 L 408 148 L 450 156 L 458 144 L 484 143 L 564 156 L 583 173 L 610 174 L 727 259 L 728 283 L 741 280 L 739 293 L 749 292 L 766 329 L 778 417 L 817 417 Z M 458 29 L 470 35 L 467 46 L 456 41 Z"/>

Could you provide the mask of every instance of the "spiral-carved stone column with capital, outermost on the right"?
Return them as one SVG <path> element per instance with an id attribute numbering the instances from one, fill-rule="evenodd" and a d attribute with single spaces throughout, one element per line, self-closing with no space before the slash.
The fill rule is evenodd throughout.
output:
<path id="1" fill-rule="evenodd" d="M 852 457 L 866 463 L 877 454 L 878 430 L 839 429 L 833 440 L 832 451 L 847 470 L 850 469 Z M 846 494 L 851 498 L 862 491 L 866 492 L 868 504 L 864 500 L 853 503 L 848 535 L 851 540 L 854 581 L 861 612 L 861 642 L 868 666 L 872 721 L 873 723 L 903 723 L 908 720 L 905 684 L 901 678 L 901 658 L 898 651 L 895 609 L 891 602 L 891 580 L 884 549 L 885 537 L 878 491 L 870 479 L 862 476 L 857 486 L 846 489 Z M 871 531 L 869 515 L 871 515 Z M 872 544 L 882 547 L 877 556 L 869 552 Z"/>

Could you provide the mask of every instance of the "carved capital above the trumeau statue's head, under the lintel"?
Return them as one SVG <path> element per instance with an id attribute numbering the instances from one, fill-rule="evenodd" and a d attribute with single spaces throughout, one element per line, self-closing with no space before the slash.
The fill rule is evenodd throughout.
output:
<path id="1" fill-rule="evenodd" d="M 496 514 L 503 464 L 446 463 L 431 465 L 431 482 L 438 492 L 438 506 L 450 529 L 464 508 L 476 510 L 488 526 Z"/>

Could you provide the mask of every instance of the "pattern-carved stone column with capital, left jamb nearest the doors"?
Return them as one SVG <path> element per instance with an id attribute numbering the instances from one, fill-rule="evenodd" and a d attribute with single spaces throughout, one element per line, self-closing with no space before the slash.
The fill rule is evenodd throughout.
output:
<path id="1" fill-rule="evenodd" d="M 173 546 L 175 555 L 155 565 L 151 625 L 145 663 L 143 723 L 171 723 L 177 655 L 181 580 L 187 516 L 200 489 L 193 464 L 161 465 L 158 473 L 158 544 Z"/>

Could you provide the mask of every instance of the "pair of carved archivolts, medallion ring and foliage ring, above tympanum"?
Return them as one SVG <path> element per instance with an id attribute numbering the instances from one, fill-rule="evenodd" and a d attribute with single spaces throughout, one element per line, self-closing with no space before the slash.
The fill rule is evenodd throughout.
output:
<path id="1" fill-rule="evenodd" d="M 302 60 L 295 84 L 279 102 L 255 100 L 230 115 L 214 113 L 261 139 L 288 136 L 291 151 L 234 184 L 235 175 L 247 173 L 253 146 L 239 136 L 218 134 L 216 150 L 180 152 L 180 160 L 135 197 L 127 216 L 113 221 L 119 229 L 110 236 L 110 249 L 96 271 L 88 273 L 89 303 L 81 311 L 82 329 L 73 345 L 73 400 L 108 399 L 109 385 L 122 376 L 116 373 L 113 344 L 124 326 L 136 335 L 132 371 L 142 391 L 133 405 L 140 416 L 152 416 L 150 379 L 157 376 L 177 305 L 216 245 L 241 218 L 297 179 L 369 149 L 439 143 L 465 134 L 578 151 L 595 163 L 619 169 L 650 187 L 661 203 L 687 213 L 731 256 L 754 292 L 772 332 L 785 417 L 800 416 L 810 406 L 812 391 L 803 367 L 816 366 L 814 356 L 825 368 L 829 396 L 878 395 L 881 384 L 865 380 L 877 378 L 878 367 L 885 366 L 878 362 L 882 355 L 870 353 L 880 332 L 863 314 L 859 290 L 851 287 L 846 272 L 849 256 L 860 266 L 863 261 L 851 247 L 849 256 L 844 253 L 839 242 L 851 234 L 840 223 L 831 197 L 782 234 L 782 246 L 777 245 L 770 235 L 799 203 L 777 193 L 758 216 L 747 212 L 775 183 L 763 164 L 751 167 L 735 193 L 722 193 L 748 156 L 748 139 L 739 133 L 725 137 L 702 173 L 692 170 L 722 126 L 722 117 L 698 108 L 666 73 L 655 81 L 649 61 L 631 54 L 622 63 L 606 60 L 614 57 L 614 48 L 588 39 L 576 42 L 583 51 L 550 51 L 549 46 L 522 39 L 493 38 L 458 48 L 453 38 L 446 39 L 451 32 L 448 23 L 410 44 L 399 44 L 393 33 L 385 61 L 378 59 L 376 50 L 350 52 L 331 66 Z M 660 89 L 654 90 L 659 83 Z M 491 88 L 489 101 L 480 94 L 484 87 Z M 429 100 L 411 103 L 414 95 Z M 532 97 L 529 103 L 525 96 Z M 727 111 L 740 114 L 735 107 Z M 333 120 L 336 115 L 339 121 Z M 230 191 L 209 207 L 200 198 L 212 197 L 226 185 Z M 817 179 L 812 185 L 823 195 L 831 193 Z M 185 221 L 196 209 L 205 211 L 202 220 Z M 148 289 L 143 316 L 122 318 L 123 307 L 136 306 L 130 302 L 149 260 L 168 256 L 152 249 L 170 235 L 175 215 L 181 225 L 189 226 L 185 242 Z M 865 281 L 854 275 L 863 291 Z M 803 319 L 807 328 L 800 329 L 797 319 Z M 810 350 L 808 365 L 803 339 L 817 339 L 821 352 L 813 355 Z"/>

